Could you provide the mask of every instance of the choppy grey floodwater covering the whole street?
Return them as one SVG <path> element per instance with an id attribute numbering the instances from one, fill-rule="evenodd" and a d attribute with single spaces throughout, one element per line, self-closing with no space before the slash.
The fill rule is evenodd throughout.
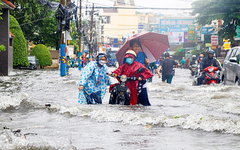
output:
<path id="1" fill-rule="evenodd" d="M 80 73 L 0 77 L 0 150 L 240 149 L 239 86 L 192 86 L 190 71 L 176 69 L 171 85 L 156 74 L 148 84 L 152 106 L 109 105 L 109 93 L 80 105 Z"/>

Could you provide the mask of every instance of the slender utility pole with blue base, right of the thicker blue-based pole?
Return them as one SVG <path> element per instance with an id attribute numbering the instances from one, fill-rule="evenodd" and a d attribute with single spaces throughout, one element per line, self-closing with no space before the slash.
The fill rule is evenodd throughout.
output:
<path id="1" fill-rule="evenodd" d="M 79 12 L 79 29 L 82 27 L 82 0 L 80 0 L 80 12 Z M 78 70 L 82 68 L 82 32 L 79 33 L 79 53 L 78 53 Z"/>

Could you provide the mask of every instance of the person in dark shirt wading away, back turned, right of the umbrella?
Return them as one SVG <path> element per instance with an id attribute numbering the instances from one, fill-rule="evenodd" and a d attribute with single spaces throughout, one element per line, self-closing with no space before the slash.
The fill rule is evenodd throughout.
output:
<path id="1" fill-rule="evenodd" d="M 178 63 L 173 59 L 169 59 L 169 53 L 165 53 L 165 59 L 162 61 L 162 63 L 157 69 L 159 78 L 161 78 L 160 70 L 162 69 L 162 82 L 166 82 L 167 80 L 167 83 L 172 83 L 172 78 L 174 75 L 174 65 L 178 65 Z"/>

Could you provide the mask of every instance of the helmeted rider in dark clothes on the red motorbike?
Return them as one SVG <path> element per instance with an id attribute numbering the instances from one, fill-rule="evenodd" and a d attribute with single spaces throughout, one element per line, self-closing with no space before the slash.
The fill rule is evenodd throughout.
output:
<path id="1" fill-rule="evenodd" d="M 209 66 L 214 66 L 214 67 L 218 67 L 218 70 L 222 70 L 222 68 L 220 67 L 218 61 L 213 58 L 214 55 L 214 51 L 213 50 L 209 50 L 208 51 L 208 58 L 205 58 L 202 60 L 201 64 L 200 64 L 200 71 L 202 72 L 202 75 L 200 77 L 198 77 L 197 81 L 197 85 L 201 85 L 203 83 L 203 80 L 205 80 L 206 75 L 204 73 L 204 69 L 209 67 Z M 220 83 L 220 80 L 217 81 L 217 83 Z"/>

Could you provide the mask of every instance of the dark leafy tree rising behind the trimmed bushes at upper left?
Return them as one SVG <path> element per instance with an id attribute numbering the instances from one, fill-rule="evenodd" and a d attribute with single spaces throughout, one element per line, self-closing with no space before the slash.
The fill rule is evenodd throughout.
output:
<path id="1" fill-rule="evenodd" d="M 57 2 L 59 1 L 57 0 Z M 11 2 L 16 8 L 11 10 L 10 13 L 18 20 L 28 41 L 59 47 L 60 34 L 57 28 L 55 11 L 39 4 L 36 0 L 12 0 Z"/>

